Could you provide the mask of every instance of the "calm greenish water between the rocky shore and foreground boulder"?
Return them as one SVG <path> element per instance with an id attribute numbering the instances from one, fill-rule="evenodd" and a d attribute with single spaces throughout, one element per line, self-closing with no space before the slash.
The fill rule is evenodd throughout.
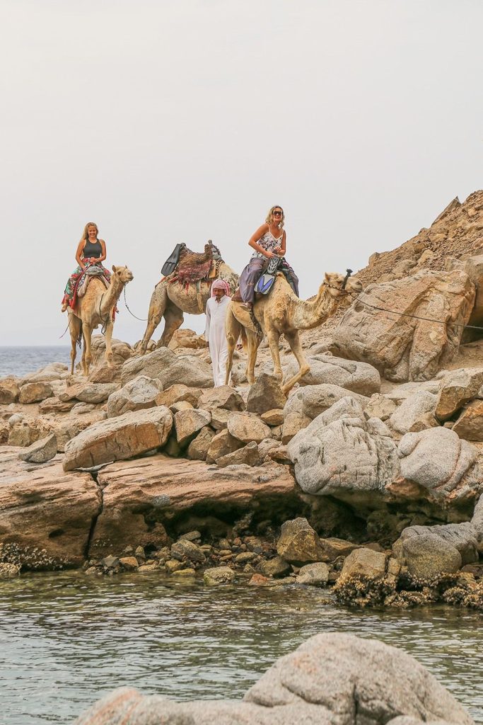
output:
<path id="1" fill-rule="evenodd" d="M 68 724 L 124 685 L 177 700 L 242 697 L 304 639 L 343 631 L 402 647 L 483 723 L 480 614 L 348 610 L 326 598 L 298 587 L 211 589 L 156 572 L 1 581 L 1 722 Z"/>

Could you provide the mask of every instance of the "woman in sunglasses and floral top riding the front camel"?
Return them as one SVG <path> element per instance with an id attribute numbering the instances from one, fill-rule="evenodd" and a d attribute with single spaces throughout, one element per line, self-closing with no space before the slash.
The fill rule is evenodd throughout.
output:
<path id="1" fill-rule="evenodd" d="M 287 248 L 287 235 L 283 229 L 285 215 L 280 206 L 272 207 L 266 215 L 265 223 L 259 227 L 248 240 L 248 245 L 255 250 L 251 260 L 240 275 L 240 297 L 245 302 L 245 307 L 253 307 L 255 296 L 255 285 L 259 280 L 267 260 L 272 257 L 284 257 Z M 298 277 L 290 265 L 282 259 L 279 265 L 280 271 L 287 276 L 293 291 L 298 297 Z"/>

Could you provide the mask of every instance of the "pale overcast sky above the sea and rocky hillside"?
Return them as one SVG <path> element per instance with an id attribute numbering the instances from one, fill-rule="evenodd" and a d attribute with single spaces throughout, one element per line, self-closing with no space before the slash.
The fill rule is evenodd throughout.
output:
<path id="1" fill-rule="evenodd" d="M 0 344 L 61 344 L 91 220 L 145 318 L 177 242 L 240 272 L 272 204 L 308 297 L 483 186 L 481 0 L 0 0 L 0 27 Z"/>

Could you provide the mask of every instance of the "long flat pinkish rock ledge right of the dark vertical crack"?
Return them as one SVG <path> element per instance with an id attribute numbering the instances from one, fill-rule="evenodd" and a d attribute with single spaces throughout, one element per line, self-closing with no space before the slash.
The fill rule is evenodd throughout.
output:
<path id="1" fill-rule="evenodd" d="M 285 466 L 266 464 L 213 469 L 198 460 L 163 454 L 112 463 L 98 473 L 104 507 L 93 532 L 91 555 L 119 554 L 126 544 L 164 546 L 173 515 L 190 508 L 227 517 L 234 506 L 285 500 L 294 481 Z"/>

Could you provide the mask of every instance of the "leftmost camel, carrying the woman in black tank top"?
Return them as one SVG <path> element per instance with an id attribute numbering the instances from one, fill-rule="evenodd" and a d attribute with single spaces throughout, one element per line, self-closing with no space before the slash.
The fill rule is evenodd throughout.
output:
<path id="1" fill-rule="evenodd" d="M 112 313 L 116 307 L 125 285 L 133 280 L 133 273 L 127 267 L 112 267 L 111 283 L 106 289 L 104 283 L 93 277 L 88 284 L 84 297 L 77 297 L 75 309 L 69 309 L 69 330 L 72 349 L 70 351 L 70 374 L 74 374 L 76 345 L 84 338 L 82 355 L 83 373 L 89 374 L 91 365 L 91 336 L 92 331 L 102 325 L 106 328 L 106 362 L 112 365 L 112 328 L 114 320 Z"/>

